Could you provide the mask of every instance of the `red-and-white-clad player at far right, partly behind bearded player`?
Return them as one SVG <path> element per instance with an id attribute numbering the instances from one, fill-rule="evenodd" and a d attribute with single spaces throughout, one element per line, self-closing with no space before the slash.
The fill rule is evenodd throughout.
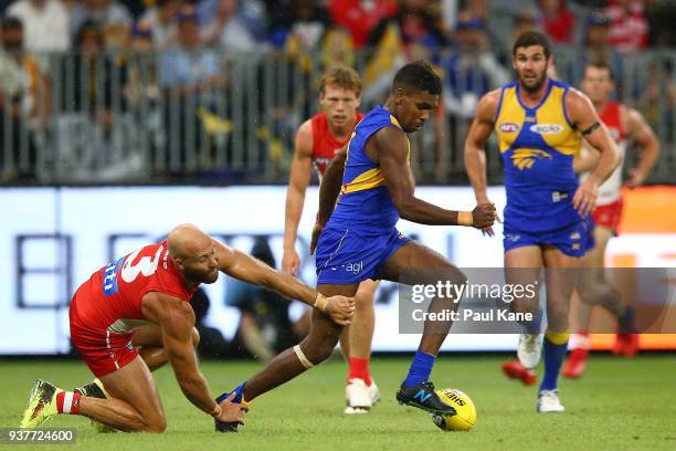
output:
<path id="1" fill-rule="evenodd" d="M 584 67 L 582 91 L 594 104 L 599 117 L 608 127 L 611 136 L 617 141 L 620 154 L 624 158 L 627 144 L 634 143 L 641 149 L 641 159 L 636 168 L 630 171 L 627 185 L 636 187 L 647 178 L 659 155 L 659 144 L 651 127 L 645 123 L 637 111 L 625 105 L 611 102 L 610 97 L 615 88 L 611 67 L 606 64 L 588 64 Z M 575 170 L 584 172 L 593 166 L 598 155 L 588 150 L 577 162 Z M 603 305 L 613 313 L 619 321 L 619 334 L 615 340 L 614 354 L 633 356 L 638 349 L 638 336 L 633 323 L 633 310 L 621 304 L 620 294 L 605 282 L 603 274 L 603 258 L 611 237 L 617 234 L 617 226 L 622 216 L 622 165 L 615 169 L 611 177 L 599 187 L 596 209 L 593 213 L 595 223 L 595 247 L 584 255 L 580 284 L 580 303 L 578 318 L 580 334 L 574 337 L 573 348 L 563 375 L 580 377 L 584 371 L 588 354 L 588 328 L 591 308 L 595 304 Z"/>

